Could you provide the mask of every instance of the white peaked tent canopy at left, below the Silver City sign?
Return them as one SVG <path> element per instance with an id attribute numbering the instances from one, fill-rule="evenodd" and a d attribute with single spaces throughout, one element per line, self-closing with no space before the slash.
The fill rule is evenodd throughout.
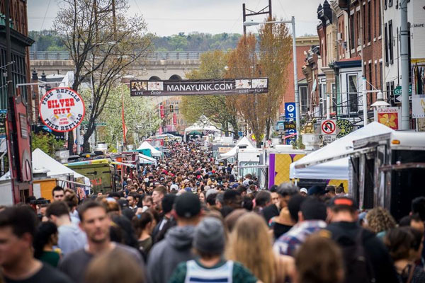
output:
<path id="1" fill-rule="evenodd" d="M 33 171 L 47 171 L 47 177 L 74 175 L 74 178 L 84 178 L 84 183 L 90 184 L 90 179 L 50 157 L 41 149 L 33 151 Z M 0 180 L 10 179 L 10 172 L 1 176 Z"/>

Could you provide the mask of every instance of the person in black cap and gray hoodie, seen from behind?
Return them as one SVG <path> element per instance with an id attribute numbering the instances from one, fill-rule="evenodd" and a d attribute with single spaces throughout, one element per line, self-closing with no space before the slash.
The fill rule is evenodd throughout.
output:
<path id="1" fill-rule="evenodd" d="M 166 283 L 180 262 L 195 258 L 192 253 L 192 241 L 195 226 L 200 221 L 200 200 L 198 196 L 185 192 L 176 198 L 173 212 L 177 226 L 165 234 L 162 241 L 156 243 L 147 262 L 147 282 Z"/>

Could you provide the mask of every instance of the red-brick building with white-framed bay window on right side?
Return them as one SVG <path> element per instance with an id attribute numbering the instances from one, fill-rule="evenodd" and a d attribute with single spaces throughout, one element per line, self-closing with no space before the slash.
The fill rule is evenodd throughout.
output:
<path id="1" fill-rule="evenodd" d="M 331 117 L 360 125 L 363 76 L 366 89 L 385 91 L 381 6 L 380 0 L 324 0 L 319 4 L 319 45 L 307 52 L 303 67 L 310 91 L 310 117 L 326 117 L 329 101 Z M 367 99 L 371 119 L 375 94 L 368 94 Z"/>

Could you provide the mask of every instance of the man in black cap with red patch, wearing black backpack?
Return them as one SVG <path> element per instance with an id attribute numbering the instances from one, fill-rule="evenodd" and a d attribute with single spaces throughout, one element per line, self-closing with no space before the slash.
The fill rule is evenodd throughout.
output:
<path id="1" fill-rule="evenodd" d="M 342 249 L 344 283 L 397 283 L 394 264 L 384 244 L 358 224 L 357 204 L 351 197 L 334 197 L 329 203 L 326 230 Z"/>

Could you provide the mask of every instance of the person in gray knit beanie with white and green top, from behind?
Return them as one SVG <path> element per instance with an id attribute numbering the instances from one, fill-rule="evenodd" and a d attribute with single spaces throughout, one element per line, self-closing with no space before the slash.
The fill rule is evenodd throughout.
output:
<path id="1" fill-rule="evenodd" d="M 225 229 L 220 220 L 205 217 L 200 221 L 194 232 L 193 248 L 199 258 L 181 262 L 174 270 L 169 283 L 258 282 L 241 263 L 223 258 Z"/>

